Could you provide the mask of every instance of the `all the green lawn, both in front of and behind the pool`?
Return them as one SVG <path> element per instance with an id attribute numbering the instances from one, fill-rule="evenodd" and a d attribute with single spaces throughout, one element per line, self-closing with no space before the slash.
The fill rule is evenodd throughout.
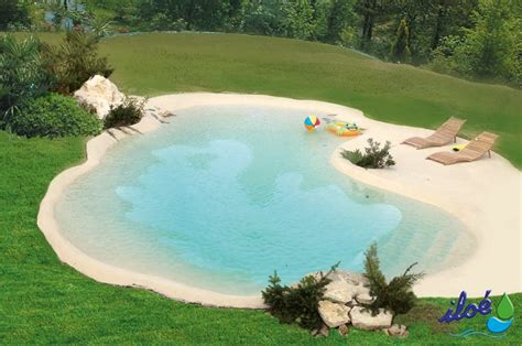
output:
<path id="1" fill-rule="evenodd" d="M 489 129 L 502 134 L 502 153 L 519 166 L 522 163 L 516 145 L 521 93 L 505 87 L 279 39 L 159 34 L 109 39 L 102 50 L 117 67 L 113 79 L 127 91 L 230 90 L 324 99 L 358 107 L 374 118 L 420 126 L 435 126 L 448 113 L 466 115 L 468 133 Z M 84 160 L 84 139 L 28 140 L 0 132 L 0 344 L 402 343 L 355 329 L 346 339 L 337 334 L 316 339 L 263 312 L 183 304 L 145 290 L 100 284 L 62 264 L 35 219 L 53 176 Z M 485 331 L 486 317 L 441 325 L 436 318 L 449 300 L 424 299 L 400 317 L 411 327 L 405 342 L 519 344 L 522 294 L 511 299 L 515 324 L 503 339 L 448 335 Z"/>

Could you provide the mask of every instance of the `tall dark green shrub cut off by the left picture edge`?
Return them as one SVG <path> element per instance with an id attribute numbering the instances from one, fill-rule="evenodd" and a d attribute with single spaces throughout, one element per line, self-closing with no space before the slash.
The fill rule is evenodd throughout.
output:
<path id="1" fill-rule="evenodd" d="M 0 36 L 0 129 L 4 128 L 4 117 L 20 104 L 53 86 L 39 48 L 35 37 L 17 41 L 13 35 Z"/>

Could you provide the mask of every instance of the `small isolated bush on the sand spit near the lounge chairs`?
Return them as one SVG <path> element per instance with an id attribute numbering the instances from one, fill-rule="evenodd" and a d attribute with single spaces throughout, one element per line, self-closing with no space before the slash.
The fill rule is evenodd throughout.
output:
<path id="1" fill-rule="evenodd" d="M 387 141 L 381 149 L 381 143 L 373 141 L 372 138 L 368 140 L 370 147 L 365 148 L 365 153 L 359 149 L 356 151 L 345 150 L 341 152 L 342 158 L 350 161 L 358 166 L 365 169 L 383 169 L 395 164 L 393 156 L 390 154 L 391 143 Z"/>

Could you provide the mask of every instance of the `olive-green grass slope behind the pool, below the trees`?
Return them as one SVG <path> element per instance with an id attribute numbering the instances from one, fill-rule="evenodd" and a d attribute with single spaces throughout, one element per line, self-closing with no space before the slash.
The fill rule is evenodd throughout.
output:
<path id="1" fill-rule="evenodd" d="M 236 34 L 143 34 L 111 37 L 102 52 L 127 91 L 237 91 L 319 99 L 369 117 L 436 128 L 468 119 L 463 134 L 501 136 L 497 150 L 522 166 L 522 91 L 470 83 L 409 65 L 382 63 L 340 47 Z"/>

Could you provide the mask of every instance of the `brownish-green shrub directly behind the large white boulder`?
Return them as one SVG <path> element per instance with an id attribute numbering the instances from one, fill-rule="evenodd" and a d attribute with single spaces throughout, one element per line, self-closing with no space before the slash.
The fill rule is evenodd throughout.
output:
<path id="1" fill-rule="evenodd" d="M 56 91 L 70 94 L 95 75 L 109 77 L 107 57 L 98 56 L 98 39 L 84 31 L 69 31 L 59 46 L 44 45 L 48 69 L 56 76 Z"/>

